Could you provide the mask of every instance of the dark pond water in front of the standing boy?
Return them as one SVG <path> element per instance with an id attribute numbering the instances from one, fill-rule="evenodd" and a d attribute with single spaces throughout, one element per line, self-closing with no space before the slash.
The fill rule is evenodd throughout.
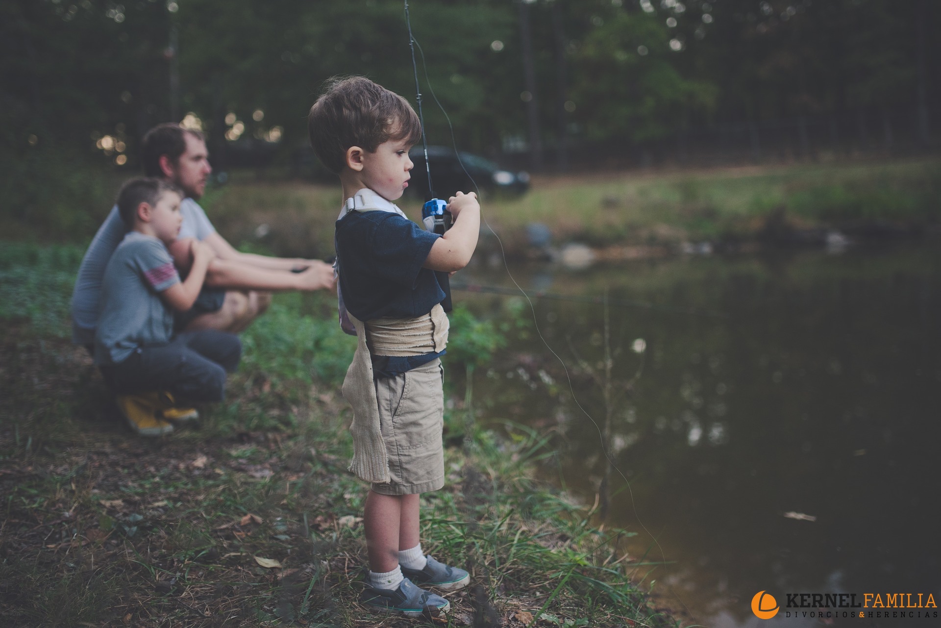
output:
<path id="1" fill-rule="evenodd" d="M 931 592 L 941 600 L 941 253 L 933 246 L 582 272 L 511 267 L 527 290 L 578 298 L 607 291 L 613 302 L 611 449 L 633 503 L 614 471 L 607 524 L 638 532 L 626 562 L 671 563 L 634 573 L 656 580 L 654 592 L 685 623 L 821 625 L 758 620 L 750 602 L 763 589 L 782 605 L 785 592 Z M 512 287 L 502 265 L 472 268 L 455 282 Z M 498 319 L 518 301 L 466 291 L 455 298 Z M 603 306 L 534 304 L 577 398 L 601 425 L 601 388 L 575 354 L 603 372 Z M 546 477 L 595 501 L 605 473 L 598 429 L 532 330 L 478 370 L 474 391 L 481 421 L 555 429 L 558 461 Z M 941 621 L 905 625 L 916 624 Z"/>

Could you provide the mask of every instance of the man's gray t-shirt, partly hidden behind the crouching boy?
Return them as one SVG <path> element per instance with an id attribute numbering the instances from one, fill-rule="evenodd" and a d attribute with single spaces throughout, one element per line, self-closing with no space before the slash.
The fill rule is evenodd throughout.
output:
<path id="1" fill-rule="evenodd" d="M 180 213 L 183 214 L 180 238 L 195 237 L 201 241 L 215 233 L 213 223 L 197 201 L 183 199 Z M 82 258 L 72 291 L 72 342 L 76 344 L 91 345 L 95 342 L 104 268 L 127 232 L 127 226 L 118 214 L 118 205 L 115 205 Z"/>

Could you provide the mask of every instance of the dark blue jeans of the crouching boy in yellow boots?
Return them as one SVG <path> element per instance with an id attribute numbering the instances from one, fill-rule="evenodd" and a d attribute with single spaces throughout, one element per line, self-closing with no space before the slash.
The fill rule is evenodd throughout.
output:
<path id="1" fill-rule="evenodd" d="M 238 336 L 216 330 L 183 332 L 167 345 L 141 346 L 124 362 L 102 366 L 118 395 L 167 391 L 191 402 L 221 401 L 226 372 L 242 356 Z"/>

